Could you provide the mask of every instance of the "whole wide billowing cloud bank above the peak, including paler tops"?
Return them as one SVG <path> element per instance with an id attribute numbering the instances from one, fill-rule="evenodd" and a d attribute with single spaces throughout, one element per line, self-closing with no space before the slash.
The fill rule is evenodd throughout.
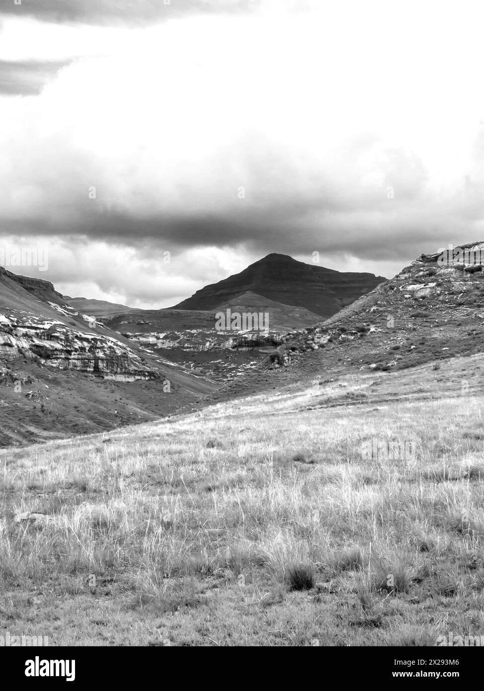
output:
<path id="1" fill-rule="evenodd" d="M 202 182 L 197 176 L 184 187 L 180 182 L 176 193 L 169 193 L 162 182 L 153 182 L 150 167 L 130 173 L 129 178 L 115 173 L 113 178 L 101 173 L 86 178 L 83 164 L 75 165 L 72 157 L 68 167 L 59 167 L 52 178 L 53 160 L 47 178 L 44 171 L 35 178 L 42 204 L 30 208 L 27 196 L 21 211 L 28 215 L 23 220 L 4 216 L 3 231 L 119 242 L 146 256 L 153 248 L 184 252 L 243 246 L 259 256 L 281 252 L 308 256 L 311 261 L 312 252 L 318 251 L 402 265 L 421 252 L 436 252 L 449 242 L 483 234 L 479 230 L 484 214 L 482 176 L 463 178 L 461 189 L 441 198 L 429 187 L 422 160 L 405 149 L 380 147 L 385 154 L 377 170 L 380 182 L 376 178 L 365 182 L 365 167 L 357 163 L 343 171 L 320 165 L 307 173 L 297 160 L 273 147 L 264 148 L 258 141 L 255 155 L 249 144 L 244 140 L 240 169 L 234 172 L 229 167 L 222 178 L 212 179 L 216 168 L 207 163 Z M 374 138 L 367 141 L 368 147 L 378 144 Z M 362 146 L 358 140 L 358 154 Z M 357 159 L 348 144 L 345 157 Z M 479 166 L 480 158 L 476 173 Z M 70 174 L 65 188 L 64 170 Z M 28 178 L 22 164 L 17 172 Z M 59 184 L 52 185 L 51 179 Z M 87 179 L 97 182 L 96 200 L 88 199 Z M 126 180 L 128 191 L 134 189 L 136 194 L 120 198 L 117 187 Z M 244 198 L 238 198 L 242 183 Z"/>

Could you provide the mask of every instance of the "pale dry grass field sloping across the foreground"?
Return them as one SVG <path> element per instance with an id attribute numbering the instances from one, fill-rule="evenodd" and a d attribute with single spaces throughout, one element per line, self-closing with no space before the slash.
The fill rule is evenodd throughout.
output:
<path id="1" fill-rule="evenodd" d="M 1 629 L 50 645 L 483 634 L 483 399 L 458 374 L 483 366 L 453 363 L 1 451 Z"/>

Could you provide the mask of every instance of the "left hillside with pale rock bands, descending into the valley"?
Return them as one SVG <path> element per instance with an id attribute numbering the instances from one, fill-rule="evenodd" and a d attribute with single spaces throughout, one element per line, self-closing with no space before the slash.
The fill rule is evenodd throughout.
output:
<path id="1" fill-rule="evenodd" d="M 0 267 L 0 446 L 157 419 L 216 388 Z"/>

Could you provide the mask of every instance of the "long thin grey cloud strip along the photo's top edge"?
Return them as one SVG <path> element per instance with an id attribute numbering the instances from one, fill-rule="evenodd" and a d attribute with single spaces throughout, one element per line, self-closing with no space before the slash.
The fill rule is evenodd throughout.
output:
<path id="1" fill-rule="evenodd" d="M 147 23 L 186 15 L 213 12 L 244 12 L 258 6 L 258 0 L 13 0 L 4 3 L 0 14 L 37 17 L 58 23 L 88 24 Z"/>

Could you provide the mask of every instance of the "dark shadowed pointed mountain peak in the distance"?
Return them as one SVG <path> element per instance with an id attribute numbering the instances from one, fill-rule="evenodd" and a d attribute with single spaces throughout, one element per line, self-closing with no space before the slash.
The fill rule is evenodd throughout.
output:
<path id="1" fill-rule="evenodd" d="M 206 285 L 173 309 L 215 310 L 242 294 L 256 294 L 283 305 L 302 307 L 327 319 L 386 281 L 374 274 L 339 272 L 268 254 L 240 274 Z"/>

